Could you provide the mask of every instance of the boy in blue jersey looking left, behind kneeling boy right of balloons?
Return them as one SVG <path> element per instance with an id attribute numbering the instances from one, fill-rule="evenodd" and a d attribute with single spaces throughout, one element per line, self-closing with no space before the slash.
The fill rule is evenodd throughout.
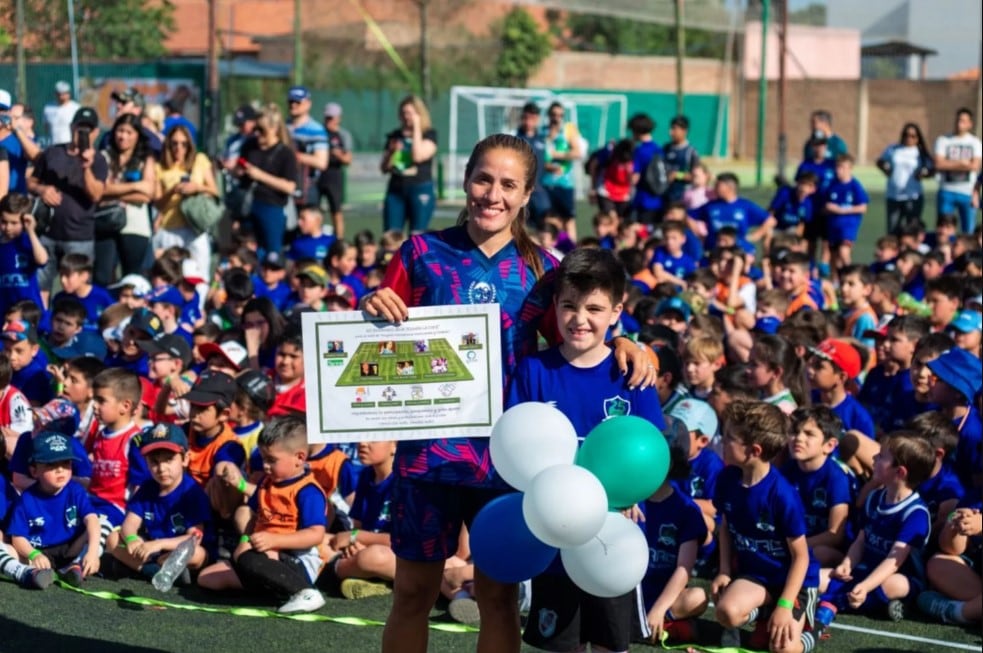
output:
<path id="1" fill-rule="evenodd" d="M 843 422 L 826 406 L 797 408 L 792 413 L 789 460 L 782 474 L 802 499 L 806 542 L 820 565 L 843 559 L 843 540 L 850 516 L 851 481 L 833 458 Z"/>

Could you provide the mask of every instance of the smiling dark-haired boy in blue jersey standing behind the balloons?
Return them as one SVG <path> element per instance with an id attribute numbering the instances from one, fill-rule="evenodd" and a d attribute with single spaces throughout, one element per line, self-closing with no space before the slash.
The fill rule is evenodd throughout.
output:
<path id="1" fill-rule="evenodd" d="M 624 269 L 609 250 L 578 248 L 563 259 L 554 296 L 563 343 L 519 363 L 507 408 L 526 401 L 553 402 L 579 438 L 618 415 L 665 426 L 655 389 L 629 389 L 606 342 L 608 329 L 621 313 L 626 283 Z M 634 591 L 615 598 L 591 597 L 558 565 L 532 584 L 531 617 L 523 634 L 527 644 L 566 651 L 582 647 L 586 639 L 611 651 L 628 649 Z M 555 619 L 561 626 L 547 628 L 540 619 Z"/>

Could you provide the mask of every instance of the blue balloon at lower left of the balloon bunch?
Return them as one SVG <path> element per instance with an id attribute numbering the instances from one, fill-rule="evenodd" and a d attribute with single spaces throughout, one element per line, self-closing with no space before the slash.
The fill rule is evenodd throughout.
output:
<path id="1" fill-rule="evenodd" d="M 488 503 L 471 525 L 471 557 L 486 576 L 518 583 L 550 566 L 559 549 L 536 539 L 522 516 L 522 493 Z"/>

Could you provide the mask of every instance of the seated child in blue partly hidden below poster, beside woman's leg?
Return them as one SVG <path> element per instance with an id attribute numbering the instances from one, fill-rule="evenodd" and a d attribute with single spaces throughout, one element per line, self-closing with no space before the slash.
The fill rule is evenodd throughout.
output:
<path id="1" fill-rule="evenodd" d="M 353 528 L 332 536 L 328 549 L 334 556 L 331 571 L 341 579 L 341 594 L 347 599 L 389 594 L 388 585 L 364 579 L 392 581 L 396 556 L 390 547 L 394 441 L 360 442 L 358 477 L 351 511 Z M 322 486 L 322 489 L 327 490 Z"/>

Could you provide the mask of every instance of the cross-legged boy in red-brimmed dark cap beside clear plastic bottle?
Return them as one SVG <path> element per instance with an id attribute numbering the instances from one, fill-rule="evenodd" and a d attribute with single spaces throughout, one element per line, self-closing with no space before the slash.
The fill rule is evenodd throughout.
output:
<path id="1" fill-rule="evenodd" d="M 208 495 L 184 473 L 187 436 L 174 424 L 158 424 L 144 432 L 140 454 L 153 479 L 127 502 L 123 525 L 109 536 L 106 547 L 126 567 L 152 578 L 171 551 L 194 537 L 198 545 L 188 569 L 201 569 L 208 559 L 201 541 L 211 511 Z"/>

